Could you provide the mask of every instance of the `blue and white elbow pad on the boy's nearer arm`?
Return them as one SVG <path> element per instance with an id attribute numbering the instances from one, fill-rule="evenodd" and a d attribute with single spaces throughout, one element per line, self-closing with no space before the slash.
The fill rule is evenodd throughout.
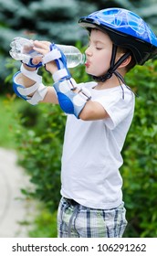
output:
<path id="1" fill-rule="evenodd" d="M 85 107 L 87 101 L 91 99 L 90 91 L 86 88 L 81 88 L 78 92 L 74 92 L 77 88 L 75 80 L 59 80 L 54 84 L 54 89 L 57 91 L 58 102 L 61 109 L 69 114 L 74 114 L 79 118 L 79 113 Z"/>

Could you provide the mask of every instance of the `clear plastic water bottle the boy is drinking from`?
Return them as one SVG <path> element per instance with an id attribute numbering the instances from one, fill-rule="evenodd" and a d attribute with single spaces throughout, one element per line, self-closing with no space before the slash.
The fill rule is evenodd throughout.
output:
<path id="1" fill-rule="evenodd" d="M 75 68 L 80 64 L 85 63 L 85 55 L 80 50 L 73 46 L 58 45 L 58 48 L 65 54 L 67 58 L 68 68 Z M 41 53 L 34 50 L 33 40 L 24 37 L 15 37 L 10 44 L 9 51 L 11 57 L 16 60 L 24 60 L 27 58 L 42 57 Z"/>

